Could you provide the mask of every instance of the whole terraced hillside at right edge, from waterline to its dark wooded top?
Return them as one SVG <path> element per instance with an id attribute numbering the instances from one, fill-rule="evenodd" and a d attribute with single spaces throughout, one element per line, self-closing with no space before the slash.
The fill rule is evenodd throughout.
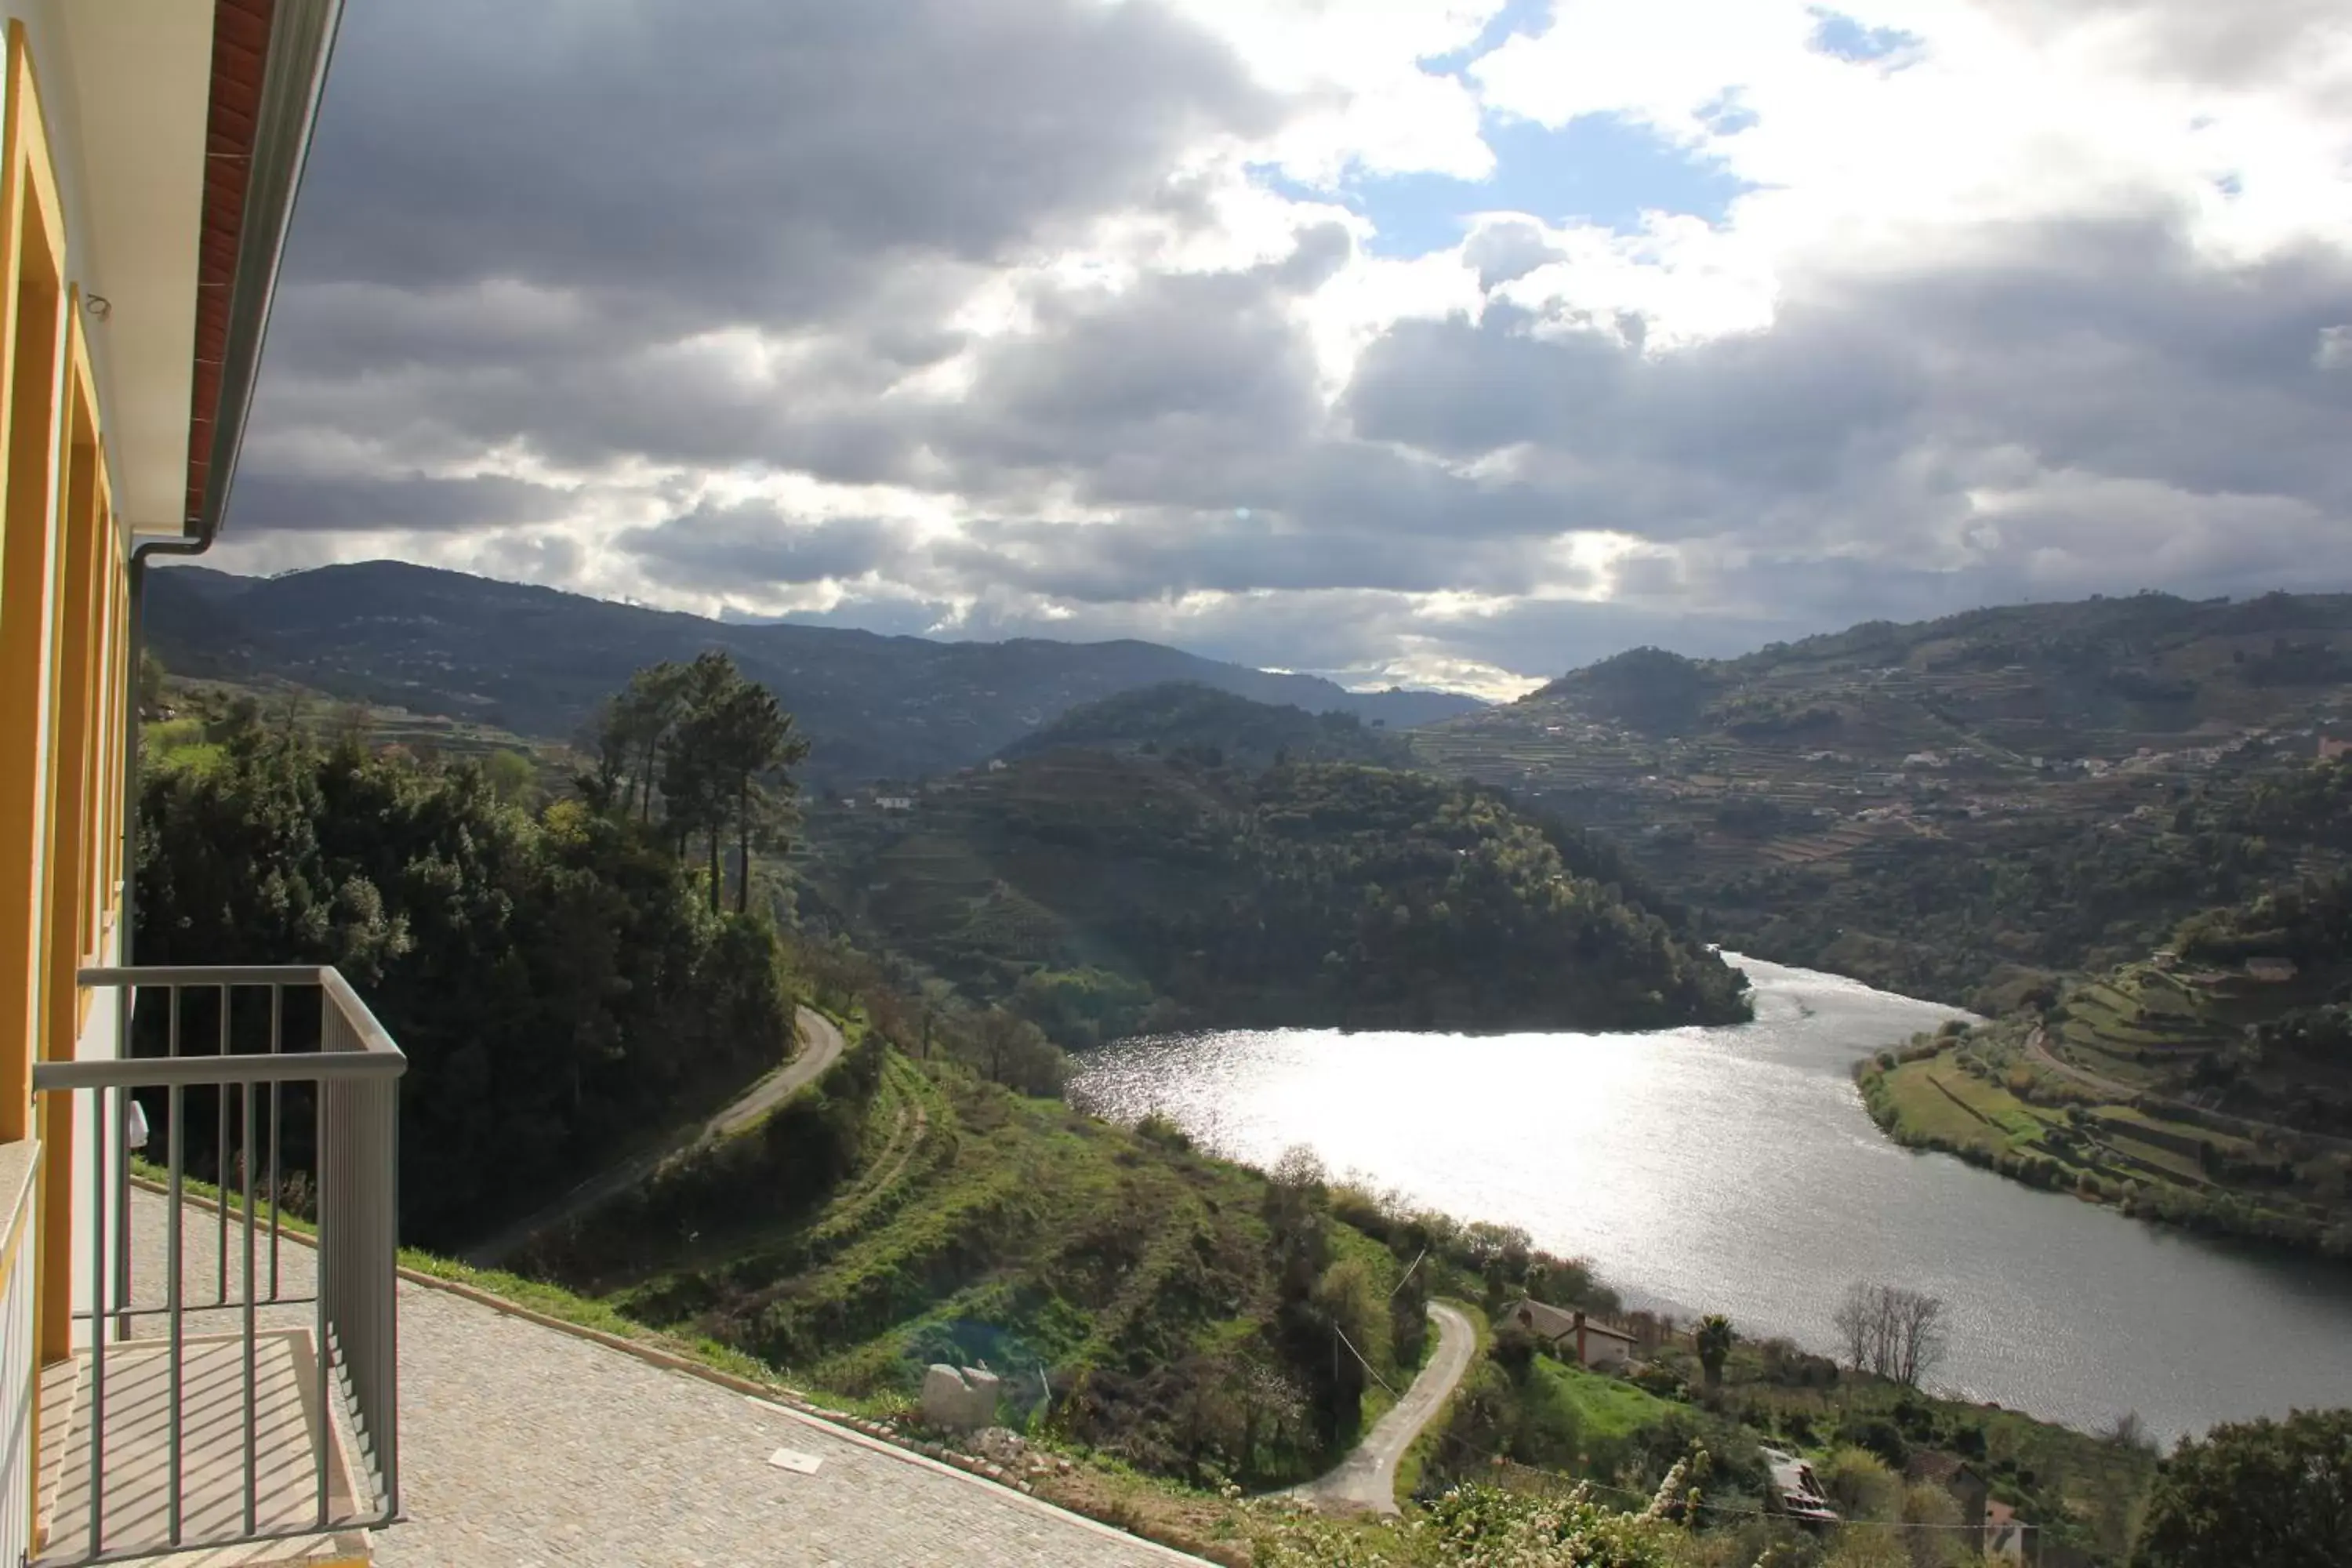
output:
<path id="1" fill-rule="evenodd" d="M 2352 879 L 2192 917 L 2037 1011 L 1882 1056 L 1863 1088 L 1905 1143 L 2352 1255 Z"/>

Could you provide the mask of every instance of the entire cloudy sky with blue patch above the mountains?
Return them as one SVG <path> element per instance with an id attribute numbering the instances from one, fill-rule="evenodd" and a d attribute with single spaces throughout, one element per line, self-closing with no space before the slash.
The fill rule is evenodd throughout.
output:
<path id="1" fill-rule="evenodd" d="M 1484 693 L 2352 588 L 2352 12 L 350 0 L 228 529 Z"/>

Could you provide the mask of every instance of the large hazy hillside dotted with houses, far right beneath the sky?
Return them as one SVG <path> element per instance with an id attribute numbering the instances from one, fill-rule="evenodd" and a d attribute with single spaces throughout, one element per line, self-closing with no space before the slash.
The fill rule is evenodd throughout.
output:
<path id="1" fill-rule="evenodd" d="M 2164 595 L 1637 649 L 1409 736 L 1613 837 L 1738 952 L 2002 1006 L 2352 844 L 2246 818 L 2352 736 L 2352 597 Z"/>

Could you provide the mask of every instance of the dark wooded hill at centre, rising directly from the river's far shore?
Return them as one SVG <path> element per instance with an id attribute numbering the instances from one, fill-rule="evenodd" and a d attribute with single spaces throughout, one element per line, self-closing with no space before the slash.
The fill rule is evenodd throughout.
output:
<path id="1" fill-rule="evenodd" d="M 1421 773 L 1051 750 L 818 804 L 804 900 L 1084 1044 L 1136 1027 L 1653 1027 L 1743 980 L 1606 849 Z"/>

